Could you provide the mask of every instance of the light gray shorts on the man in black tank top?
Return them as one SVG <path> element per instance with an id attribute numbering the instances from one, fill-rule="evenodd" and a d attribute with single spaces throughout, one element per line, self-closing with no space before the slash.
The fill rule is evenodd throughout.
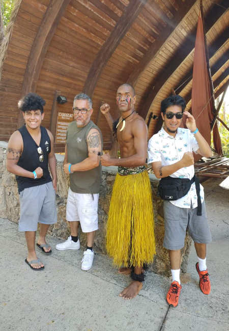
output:
<path id="1" fill-rule="evenodd" d="M 36 231 L 38 222 L 54 224 L 57 222 L 55 190 L 52 182 L 28 187 L 20 192 L 19 231 Z"/>

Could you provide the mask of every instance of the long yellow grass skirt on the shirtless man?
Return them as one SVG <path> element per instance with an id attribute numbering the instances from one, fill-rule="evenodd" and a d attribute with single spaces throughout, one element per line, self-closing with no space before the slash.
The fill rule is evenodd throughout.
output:
<path id="1" fill-rule="evenodd" d="M 154 213 L 147 171 L 117 174 L 106 225 L 106 250 L 118 267 L 153 262 Z"/>

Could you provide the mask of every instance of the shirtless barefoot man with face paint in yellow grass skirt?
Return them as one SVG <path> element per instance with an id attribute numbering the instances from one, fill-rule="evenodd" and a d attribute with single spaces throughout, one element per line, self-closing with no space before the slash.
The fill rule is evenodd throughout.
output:
<path id="1" fill-rule="evenodd" d="M 121 293 L 124 299 L 134 298 L 142 288 L 143 266 L 155 255 L 154 215 L 148 172 L 147 125 L 134 111 L 134 88 L 123 84 L 117 91 L 121 118 L 116 123 L 121 158 L 101 156 L 102 166 L 118 166 L 107 219 L 106 249 L 120 273 L 131 273 L 132 282 Z M 101 106 L 109 114 L 109 105 Z M 132 270 L 132 271 L 131 271 Z"/>

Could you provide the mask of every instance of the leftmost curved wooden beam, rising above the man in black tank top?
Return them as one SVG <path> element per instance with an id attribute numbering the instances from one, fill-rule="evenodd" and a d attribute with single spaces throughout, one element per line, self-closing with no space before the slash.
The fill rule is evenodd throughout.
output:
<path id="1" fill-rule="evenodd" d="M 65 13 L 66 7 L 71 0 L 51 0 L 39 26 L 34 39 L 30 56 L 24 74 L 24 81 L 21 89 L 21 96 L 29 92 L 36 92 L 37 81 L 41 67 L 47 52 L 48 46 L 55 33 L 58 23 Z M 18 124 L 23 124 L 22 117 L 19 117 Z"/>

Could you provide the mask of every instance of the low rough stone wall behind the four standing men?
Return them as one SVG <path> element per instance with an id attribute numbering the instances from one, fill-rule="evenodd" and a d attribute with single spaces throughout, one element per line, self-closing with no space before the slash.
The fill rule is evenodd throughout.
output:
<path id="1" fill-rule="evenodd" d="M 15 176 L 6 170 L 6 148 L 7 143 L 0 142 L 0 217 L 8 218 L 14 223 L 18 223 L 20 215 L 19 196 Z M 58 222 L 49 228 L 49 234 L 59 238 L 67 238 L 70 234 L 70 227 L 66 221 L 66 201 L 69 186 L 69 176 L 63 171 L 63 155 L 56 155 L 57 158 L 57 176 L 58 189 L 56 193 L 56 208 L 58 210 Z M 112 191 L 113 182 L 117 173 L 116 167 L 103 167 L 102 169 L 102 185 L 99 198 L 99 230 L 96 233 L 95 245 L 98 249 L 105 250 L 105 224 L 107 213 L 109 210 L 109 201 Z M 153 205 L 155 213 L 155 240 L 156 240 L 156 256 L 154 262 L 150 265 L 150 269 L 156 273 L 169 275 L 170 265 L 168 252 L 162 247 L 164 236 L 164 219 L 162 200 L 157 197 L 158 179 L 154 175 L 150 175 L 151 187 L 153 192 Z M 85 245 L 85 234 L 79 233 L 82 246 Z M 186 272 L 187 259 L 191 246 L 191 238 L 186 236 L 185 247 L 182 251 L 182 269 Z"/>

